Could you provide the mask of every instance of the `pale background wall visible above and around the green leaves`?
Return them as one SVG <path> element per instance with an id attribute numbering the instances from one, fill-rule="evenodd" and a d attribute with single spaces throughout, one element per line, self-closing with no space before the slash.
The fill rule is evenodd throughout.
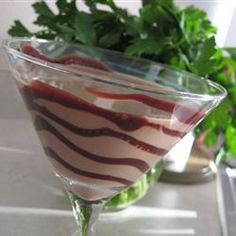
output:
<path id="1" fill-rule="evenodd" d="M 32 24 L 35 19 L 31 4 L 34 0 L 0 0 L 0 42 L 7 38 L 7 30 L 15 19 L 20 19 L 32 31 L 37 27 Z M 46 1 L 53 11 L 56 11 L 55 0 Z M 120 6 L 126 7 L 132 13 L 137 13 L 141 5 L 140 0 L 115 0 Z M 236 1 L 235 0 L 178 0 L 180 5 L 194 4 L 208 12 L 211 21 L 219 30 L 217 42 L 220 46 L 236 47 Z M 80 9 L 85 9 L 83 2 L 77 1 Z M 0 69 L 6 69 L 6 61 L 0 51 Z"/>

